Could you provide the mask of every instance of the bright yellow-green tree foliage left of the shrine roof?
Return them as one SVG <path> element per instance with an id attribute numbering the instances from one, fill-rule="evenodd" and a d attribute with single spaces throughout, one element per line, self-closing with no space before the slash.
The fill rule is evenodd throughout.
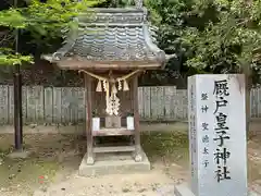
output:
<path id="1" fill-rule="evenodd" d="M 0 11 L 0 26 L 5 27 L 0 34 L 0 64 L 21 64 L 23 61 L 33 61 L 30 53 L 26 56 L 14 52 L 12 42 L 14 42 L 15 29 L 20 29 L 22 36 L 29 37 L 28 42 L 46 46 L 51 39 L 61 38 L 63 28 L 74 25 L 73 17 L 99 2 L 101 0 L 82 0 L 80 2 L 30 0 L 25 7 L 11 7 Z"/>

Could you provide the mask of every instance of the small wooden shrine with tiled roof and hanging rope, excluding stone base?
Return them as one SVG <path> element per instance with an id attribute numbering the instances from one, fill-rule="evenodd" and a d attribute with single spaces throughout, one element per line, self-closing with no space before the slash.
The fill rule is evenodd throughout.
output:
<path id="1" fill-rule="evenodd" d="M 150 35 L 142 1 L 134 8 L 94 9 L 80 14 L 64 46 L 42 58 L 62 70 L 78 70 L 86 87 L 87 164 L 95 154 L 129 151 L 141 161 L 138 76 L 167 60 Z M 100 136 L 133 136 L 128 146 L 99 147 Z"/>

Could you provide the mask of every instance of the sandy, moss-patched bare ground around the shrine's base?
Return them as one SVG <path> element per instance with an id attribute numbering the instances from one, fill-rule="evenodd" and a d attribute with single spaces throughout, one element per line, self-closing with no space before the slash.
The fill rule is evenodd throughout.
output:
<path id="1" fill-rule="evenodd" d="M 26 135 L 25 148 L 32 156 L 11 160 L 13 135 L 0 136 L 0 195 L 29 196 L 35 189 L 78 195 L 161 195 L 174 183 L 188 180 L 187 135 L 178 132 L 146 132 L 142 147 L 152 162 L 147 174 L 79 177 L 77 169 L 86 151 L 86 139 L 72 135 Z M 249 183 L 254 188 L 261 180 L 261 136 L 248 142 Z M 119 179 L 117 183 L 115 177 Z"/>

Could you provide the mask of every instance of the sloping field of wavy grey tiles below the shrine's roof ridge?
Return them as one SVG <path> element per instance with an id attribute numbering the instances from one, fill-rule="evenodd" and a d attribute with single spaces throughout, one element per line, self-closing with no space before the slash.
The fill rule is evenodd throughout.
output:
<path id="1" fill-rule="evenodd" d="M 89 33 L 79 35 L 66 56 L 77 54 L 98 61 L 142 61 L 156 58 L 156 53 L 146 45 L 142 26 L 96 27 L 86 30 Z"/>

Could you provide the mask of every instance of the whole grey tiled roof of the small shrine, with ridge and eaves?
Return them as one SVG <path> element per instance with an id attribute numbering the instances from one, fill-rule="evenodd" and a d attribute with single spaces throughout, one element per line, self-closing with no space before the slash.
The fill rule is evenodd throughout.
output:
<path id="1" fill-rule="evenodd" d="M 80 14 L 76 24 L 67 33 L 64 46 L 44 59 L 63 62 L 60 64 L 64 69 L 73 66 L 69 61 L 75 69 L 83 69 L 84 64 L 112 62 L 162 66 L 167 59 L 152 39 L 145 8 L 94 9 Z"/>

